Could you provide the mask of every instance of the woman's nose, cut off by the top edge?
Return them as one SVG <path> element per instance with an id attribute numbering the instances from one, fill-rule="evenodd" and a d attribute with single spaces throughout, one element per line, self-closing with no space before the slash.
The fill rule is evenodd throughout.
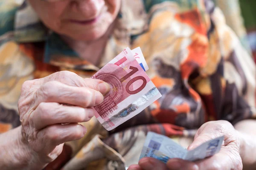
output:
<path id="1" fill-rule="evenodd" d="M 72 0 L 70 2 L 72 11 L 82 13 L 88 17 L 99 14 L 104 5 L 105 0 Z"/>

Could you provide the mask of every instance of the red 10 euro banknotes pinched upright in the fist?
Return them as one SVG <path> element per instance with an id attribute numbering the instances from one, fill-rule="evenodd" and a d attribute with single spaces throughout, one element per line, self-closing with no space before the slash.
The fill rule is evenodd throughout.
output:
<path id="1" fill-rule="evenodd" d="M 105 129 L 121 125 L 162 96 L 146 74 L 147 69 L 140 48 L 125 48 L 92 77 L 111 87 L 104 101 L 94 107 L 95 116 Z"/>

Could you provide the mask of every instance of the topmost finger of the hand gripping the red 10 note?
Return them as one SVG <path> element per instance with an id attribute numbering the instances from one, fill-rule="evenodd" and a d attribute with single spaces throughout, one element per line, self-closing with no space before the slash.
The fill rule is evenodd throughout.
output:
<path id="1" fill-rule="evenodd" d="M 108 83 L 103 82 L 102 80 L 89 78 L 84 79 L 70 71 L 59 71 L 40 80 L 41 84 L 50 81 L 58 81 L 69 86 L 87 87 L 99 91 L 102 94 L 106 94 L 110 90 Z"/>

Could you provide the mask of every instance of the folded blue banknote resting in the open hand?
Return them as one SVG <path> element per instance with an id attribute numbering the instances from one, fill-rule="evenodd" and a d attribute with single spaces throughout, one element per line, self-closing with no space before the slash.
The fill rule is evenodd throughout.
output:
<path id="1" fill-rule="evenodd" d="M 172 158 L 196 161 L 218 153 L 223 140 L 224 136 L 221 136 L 205 142 L 193 150 L 186 150 L 167 136 L 148 132 L 140 159 L 152 157 L 164 163 Z"/>

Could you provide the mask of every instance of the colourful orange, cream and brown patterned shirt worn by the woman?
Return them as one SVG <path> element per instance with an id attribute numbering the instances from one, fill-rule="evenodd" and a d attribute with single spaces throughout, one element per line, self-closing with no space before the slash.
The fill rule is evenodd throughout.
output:
<path id="1" fill-rule="evenodd" d="M 0 133 L 19 126 L 24 81 L 62 70 L 91 77 L 127 46 L 141 47 L 163 95 L 111 132 L 96 118 L 83 123 L 84 138 L 67 142 L 46 170 L 123 170 L 137 163 L 148 131 L 186 147 L 207 121 L 256 117 L 256 66 L 212 0 L 122 0 L 99 65 L 81 59 L 22 0 L 0 0 L 0 16 Z"/>

